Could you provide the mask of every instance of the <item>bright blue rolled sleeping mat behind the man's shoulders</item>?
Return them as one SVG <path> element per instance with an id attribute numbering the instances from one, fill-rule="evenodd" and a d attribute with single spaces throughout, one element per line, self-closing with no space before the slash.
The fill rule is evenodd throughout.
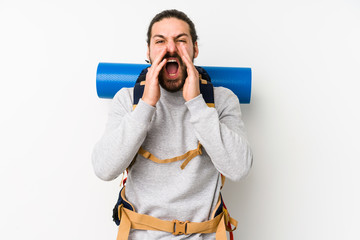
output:
<path id="1" fill-rule="evenodd" d="M 99 63 L 96 73 L 96 90 L 100 98 L 113 98 L 121 88 L 134 87 L 140 72 L 148 64 Z M 251 68 L 203 67 L 208 72 L 211 83 L 229 88 L 239 98 L 240 103 L 250 103 Z"/>

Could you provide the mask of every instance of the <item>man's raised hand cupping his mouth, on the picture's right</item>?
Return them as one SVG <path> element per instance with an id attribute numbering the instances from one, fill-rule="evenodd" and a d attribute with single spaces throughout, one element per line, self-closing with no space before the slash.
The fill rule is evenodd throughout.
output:
<path id="1" fill-rule="evenodd" d="M 179 47 L 179 52 L 181 59 L 186 65 L 186 71 L 188 75 L 185 79 L 185 84 L 183 87 L 183 96 L 185 101 L 190 101 L 191 99 L 200 95 L 199 72 L 196 70 L 193 62 L 191 61 L 185 46 L 181 45 Z"/>

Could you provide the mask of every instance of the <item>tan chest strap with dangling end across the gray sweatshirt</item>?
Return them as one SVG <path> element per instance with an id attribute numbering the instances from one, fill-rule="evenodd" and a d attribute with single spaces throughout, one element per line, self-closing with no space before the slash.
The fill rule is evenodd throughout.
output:
<path id="1" fill-rule="evenodd" d="M 142 147 L 140 147 L 140 149 L 138 151 L 138 154 L 140 154 L 144 158 L 150 159 L 151 161 L 156 162 L 156 163 L 172 163 L 172 162 L 176 162 L 176 161 L 183 160 L 183 159 L 186 158 L 186 160 L 181 165 L 181 169 L 184 169 L 186 167 L 186 165 L 190 162 L 191 159 L 193 159 L 197 155 L 202 154 L 201 147 L 202 146 L 201 146 L 201 144 L 199 142 L 196 149 L 190 150 L 190 151 L 188 151 L 187 153 L 185 153 L 185 154 L 183 154 L 181 156 L 174 157 L 174 158 L 163 159 L 163 160 L 158 159 L 157 157 L 155 157 L 153 154 L 146 151 Z"/>

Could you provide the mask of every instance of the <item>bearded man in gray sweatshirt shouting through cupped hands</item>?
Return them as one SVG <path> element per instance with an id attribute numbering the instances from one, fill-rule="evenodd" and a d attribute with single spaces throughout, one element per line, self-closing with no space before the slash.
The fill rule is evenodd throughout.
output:
<path id="1" fill-rule="evenodd" d="M 199 54 L 197 35 L 184 13 L 166 10 L 156 15 L 147 42 L 151 67 L 142 98 L 133 109 L 133 88 L 115 95 L 105 133 L 93 151 L 94 170 L 99 178 L 112 180 L 129 168 L 123 197 L 151 223 L 206 222 L 218 207 L 221 174 L 237 181 L 252 165 L 239 100 L 230 90 L 215 87 L 215 108 L 204 101 L 193 64 Z M 185 153 L 185 161 L 164 160 Z M 118 239 L 127 238 L 122 225 L 136 224 L 140 227 L 130 231 L 129 239 L 183 239 L 173 234 L 184 232 L 187 239 L 215 238 L 215 233 L 191 232 L 196 224 L 177 221 L 173 233 L 155 231 L 132 222 L 132 212 L 124 208 L 119 208 L 119 236 L 126 237 Z"/>

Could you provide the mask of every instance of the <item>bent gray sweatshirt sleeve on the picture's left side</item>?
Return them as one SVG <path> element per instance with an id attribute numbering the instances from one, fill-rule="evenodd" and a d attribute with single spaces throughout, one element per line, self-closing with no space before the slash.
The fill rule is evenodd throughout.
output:
<path id="1" fill-rule="evenodd" d="M 92 153 L 95 174 L 102 180 L 117 178 L 132 162 L 145 140 L 155 107 L 140 99 L 132 111 L 132 88 L 113 98 L 106 129 Z"/>

